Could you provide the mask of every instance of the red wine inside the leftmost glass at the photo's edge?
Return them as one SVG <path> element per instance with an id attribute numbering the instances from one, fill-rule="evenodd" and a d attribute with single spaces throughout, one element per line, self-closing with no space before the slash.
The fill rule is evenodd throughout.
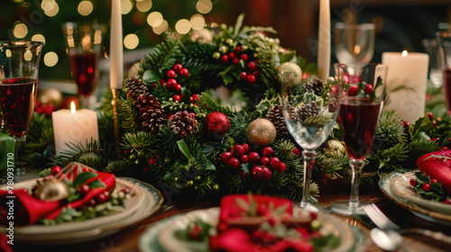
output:
<path id="1" fill-rule="evenodd" d="M 0 83 L 0 103 L 10 133 L 23 137 L 32 121 L 37 81 L 30 78 L 8 78 Z"/>

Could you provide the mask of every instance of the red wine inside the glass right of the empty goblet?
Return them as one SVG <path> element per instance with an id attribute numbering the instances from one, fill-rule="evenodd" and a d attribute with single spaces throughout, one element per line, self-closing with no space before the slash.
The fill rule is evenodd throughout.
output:
<path id="1" fill-rule="evenodd" d="M 362 160 L 373 146 L 381 103 L 371 98 L 348 97 L 340 103 L 340 126 L 349 157 Z"/>

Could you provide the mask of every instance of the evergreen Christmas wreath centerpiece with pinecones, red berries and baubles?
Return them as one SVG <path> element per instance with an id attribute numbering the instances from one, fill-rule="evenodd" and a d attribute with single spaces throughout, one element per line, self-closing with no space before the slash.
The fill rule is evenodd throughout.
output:
<path id="1" fill-rule="evenodd" d="M 240 15 L 233 27 L 223 24 L 180 37 L 167 33 L 143 58 L 135 75 L 125 79 L 117 104 L 121 157 L 113 151 L 107 92 L 99 119 L 102 144 L 72 145 L 72 151 L 52 157 L 52 163 L 77 161 L 135 176 L 160 186 L 168 200 L 249 190 L 299 199 L 304 190 L 302 157 L 281 112 L 278 67 L 290 62 L 288 70 L 299 66 L 310 74 L 299 79 L 304 94 L 291 113 L 313 121 L 325 119 L 318 114 L 318 104 L 304 103 L 303 97 L 326 98 L 334 80 L 316 78 L 311 64 L 266 35 L 275 33 L 272 28 L 246 27 L 243 19 Z M 447 120 L 425 117 L 409 125 L 395 112 L 382 112 L 362 183 L 374 185 L 383 173 L 415 168 L 418 157 L 447 144 L 449 129 Z M 314 169 L 322 176 L 317 178 L 347 178 L 348 158 L 335 127 L 318 149 Z M 310 200 L 316 201 L 318 184 L 308 190 Z"/>

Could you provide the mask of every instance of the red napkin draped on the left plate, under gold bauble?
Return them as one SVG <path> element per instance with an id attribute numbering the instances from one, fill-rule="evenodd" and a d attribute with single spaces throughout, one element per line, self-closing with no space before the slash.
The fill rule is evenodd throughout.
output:
<path id="1" fill-rule="evenodd" d="M 87 193 L 83 198 L 74 202 L 66 202 L 65 200 L 60 201 L 42 201 L 30 193 L 28 193 L 28 189 L 15 189 L 13 193 L 9 193 L 5 190 L 0 190 L 0 224 L 6 225 L 9 221 L 14 221 L 14 225 L 26 225 L 32 224 L 41 218 L 45 219 L 55 219 L 60 215 L 60 212 L 64 208 L 78 208 L 90 201 L 97 194 L 106 191 L 111 191 L 115 188 L 115 175 L 103 172 L 97 172 L 96 170 L 84 166 L 79 163 L 72 163 L 69 166 L 65 167 L 64 170 L 70 171 L 67 177 L 69 180 L 73 181 L 73 179 L 79 174 L 83 172 L 94 172 L 97 173 L 97 176 L 92 177 L 87 180 L 86 184 L 91 183 L 94 180 L 100 180 L 106 187 L 97 187 L 93 189 L 91 192 Z M 31 188 L 30 188 L 31 189 Z M 8 196 L 15 196 L 15 198 L 8 198 Z M 13 202 L 9 203 L 8 202 Z M 10 207 L 13 207 L 14 211 L 14 220 L 8 219 L 7 213 L 10 211 Z"/>

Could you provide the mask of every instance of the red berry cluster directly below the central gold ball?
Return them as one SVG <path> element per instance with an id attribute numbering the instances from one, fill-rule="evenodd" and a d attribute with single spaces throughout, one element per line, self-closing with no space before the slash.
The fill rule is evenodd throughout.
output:
<path id="1" fill-rule="evenodd" d="M 254 179 L 270 180 L 272 177 L 272 169 L 283 173 L 287 170 L 287 165 L 279 159 L 279 157 L 272 157 L 274 150 L 271 147 L 262 149 L 262 157 L 258 152 L 250 152 L 249 145 L 244 143 L 242 145 L 235 145 L 231 151 L 226 151 L 221 156 L 221 161 L 231 168 L 237 170 L 241 164 L 248 163 L 252 166 L 250 170 Z M 239 175 L 242 178 L 247 177 L 244 169 L 240 169 Z"/>

